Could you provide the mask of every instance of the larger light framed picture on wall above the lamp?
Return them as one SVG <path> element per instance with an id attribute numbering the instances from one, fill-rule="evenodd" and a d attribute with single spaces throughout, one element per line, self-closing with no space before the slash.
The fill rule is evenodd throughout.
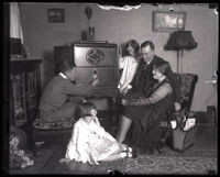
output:
<path id="1" fill-rule="evenodd" d="M 186 12 L 153 11 L 152 21 L 152 30 L 155 32 L 184 30 L 186 23 Z"/>

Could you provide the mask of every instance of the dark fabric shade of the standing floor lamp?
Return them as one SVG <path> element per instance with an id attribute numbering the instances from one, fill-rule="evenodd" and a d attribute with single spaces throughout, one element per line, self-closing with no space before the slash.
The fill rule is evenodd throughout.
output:
<path id="1" fill-rule="evenodd" d="M 166 51 L 182 51 L 182 49 L 194 49 L 197 47 L 191 31 L 177 31 L 170 34 L 170 37 L 165 45 Z"/>

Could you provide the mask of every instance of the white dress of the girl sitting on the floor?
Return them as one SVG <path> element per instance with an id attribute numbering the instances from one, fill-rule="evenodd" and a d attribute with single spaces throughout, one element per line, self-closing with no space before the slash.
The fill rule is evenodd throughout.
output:
<path id="1" fill-rule="evenodd" d="M 95 121 L 87 124 L 80 118 L 74 125 L 65 158 L 99 164 L 100 159 L 120 150 L 118 142 Z"/>

